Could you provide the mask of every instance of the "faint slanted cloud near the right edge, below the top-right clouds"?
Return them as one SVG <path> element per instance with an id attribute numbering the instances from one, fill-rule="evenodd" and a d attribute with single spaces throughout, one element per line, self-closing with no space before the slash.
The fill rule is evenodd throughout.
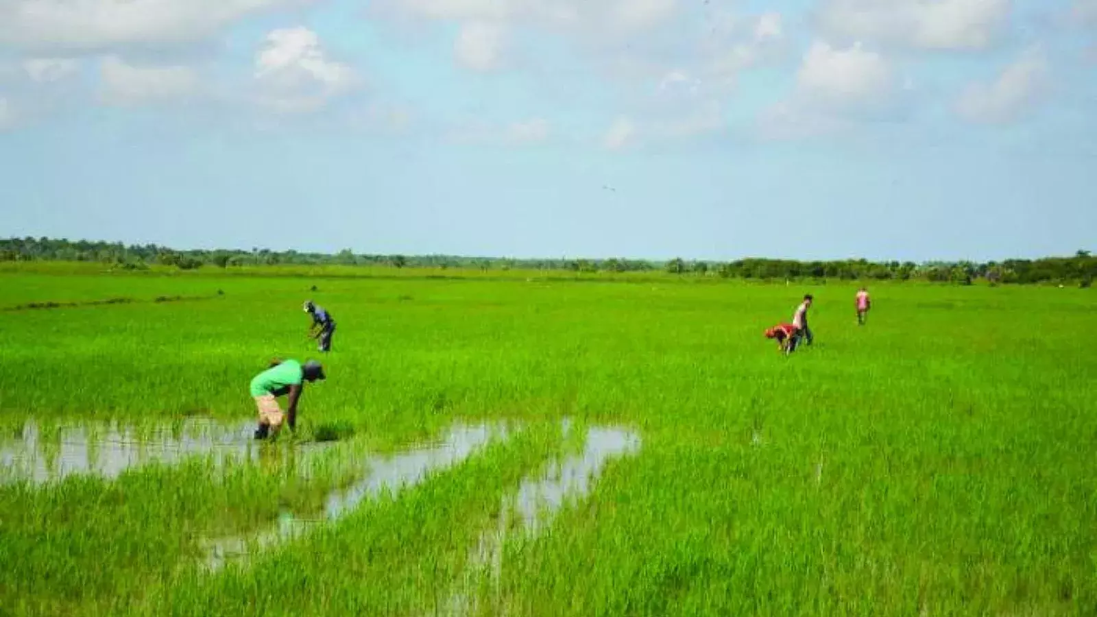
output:
<path id="1" fill-rule="evenodd" d="M 1025 52 L 997 79 L 973 83 L 957 101 L 957 112 L 971 122 L 1014 122 L 1039 102 L 1048 83 L 1048 61 L 1039 49 Z"/>

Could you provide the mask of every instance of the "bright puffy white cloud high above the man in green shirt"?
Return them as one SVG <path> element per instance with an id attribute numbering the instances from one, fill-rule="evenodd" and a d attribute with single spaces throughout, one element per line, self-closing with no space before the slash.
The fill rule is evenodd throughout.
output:
<path id="1" fill-rule="evenodd" d="M 259 101 L 276 111 L 314 111 L 359 83 L 354 70 L 327 57 L 307 27 L 271 31 L 256 54 Z"/>

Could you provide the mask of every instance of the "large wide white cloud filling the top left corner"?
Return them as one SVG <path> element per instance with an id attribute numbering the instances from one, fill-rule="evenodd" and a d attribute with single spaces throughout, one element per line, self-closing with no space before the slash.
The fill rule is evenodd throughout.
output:
<path id="1" fill-rule="evenodd" d="M 308 0 L 0 0 L 0 46 L 110 49 L 193 41 Z"/>

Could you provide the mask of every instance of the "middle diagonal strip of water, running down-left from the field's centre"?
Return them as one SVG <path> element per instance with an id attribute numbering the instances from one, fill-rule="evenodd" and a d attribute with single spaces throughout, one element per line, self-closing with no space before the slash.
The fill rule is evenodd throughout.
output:
<path id="1" fill-rule="evenodd" d="M 487 424 L 457 425 L 440 442 L 420 445 L 391 456 L 366 456 L 362 461 L 362 480 L 331 493 L 325 503 L 323 515 L 306 518 L 286 512 L 270 528 L 211 540 L 205 547 L 206 564 L 217 570 L 227 562 L 247 558 L 265 547 L 307 534 L 318 524 L 337 520 L 353 512 L 363 500 L 376 497 L 385 491 L 392 491 L 395 495 L 400 489 L 422 482 L 431 471 L 463 461 L 496 435 L 505 438 L 506 427 Z"/>

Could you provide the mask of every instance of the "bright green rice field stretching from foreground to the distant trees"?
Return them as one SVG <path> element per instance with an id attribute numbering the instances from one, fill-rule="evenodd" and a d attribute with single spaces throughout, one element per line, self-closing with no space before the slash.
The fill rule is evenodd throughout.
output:
<path id="1" fill-rule="evenodd" d="M 93 272 L 0 272 L 133 300 L 0 311 L 0 615 L 1097 615 L 1089 290 Z M 308 298 L 328 380 L 252 444 Z"/>

